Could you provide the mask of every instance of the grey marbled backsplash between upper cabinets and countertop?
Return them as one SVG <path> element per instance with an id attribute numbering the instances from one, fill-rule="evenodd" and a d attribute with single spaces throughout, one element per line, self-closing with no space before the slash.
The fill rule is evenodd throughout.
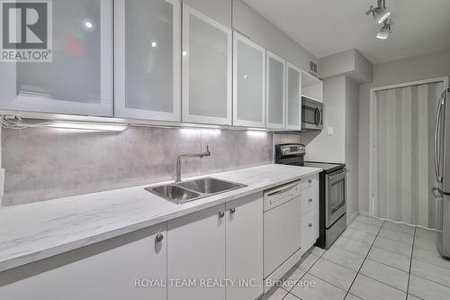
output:
<path id="1" fill-rule="evenodd" d="M 182 176 L 272 163 L 271 132 L 130 127 L 124 132 L 4 129 L 2 205 L 150 184 L 175 176 L 179 154 L 210 146 L 211 157 L 184 159 Z"/>

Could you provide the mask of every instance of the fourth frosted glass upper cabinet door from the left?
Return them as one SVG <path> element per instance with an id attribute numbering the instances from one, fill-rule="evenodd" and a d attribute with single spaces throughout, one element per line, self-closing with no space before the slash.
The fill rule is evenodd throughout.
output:
<path id="1" fill-rule="evenodd" d="M 233 125 L 265 127 L 266 50 L 233 33 Z"/>

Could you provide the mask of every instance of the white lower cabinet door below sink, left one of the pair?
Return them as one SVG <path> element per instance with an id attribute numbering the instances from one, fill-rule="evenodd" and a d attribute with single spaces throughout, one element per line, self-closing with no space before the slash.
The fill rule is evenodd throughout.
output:
<path id="1" fill-rule="evenodd" d="M 217 205 L 167 222 L 167 299 L 225 300 L 225 215 Z"/>

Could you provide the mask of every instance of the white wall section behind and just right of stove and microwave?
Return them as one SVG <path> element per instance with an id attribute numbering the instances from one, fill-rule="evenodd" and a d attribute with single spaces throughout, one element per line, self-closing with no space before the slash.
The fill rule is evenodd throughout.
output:
<path id="1" fill-rule="evenodd" d="M 347 223 L 358 213 L 359 84 L 341 76 L 324 80 L 324 130 L 302 132 L 307 160 L 345 163 L 347 174 Z M 329 135 L 329 127 L 333 134 Z"/>

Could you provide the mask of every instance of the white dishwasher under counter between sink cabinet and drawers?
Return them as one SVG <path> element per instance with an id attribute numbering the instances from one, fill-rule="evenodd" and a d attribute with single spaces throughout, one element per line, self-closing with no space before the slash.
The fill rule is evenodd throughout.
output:
<path id="1" fill-rule="evenodd" d="M 264 277 L 280 279 L 300 259 L 301 181 L 264 192 Z M 286 266 L 286 261 L 293 263 Z M 292 266 L 291 266 L 292 265 Z M 287 268 L 287 269 L 286 269 Z"/>

